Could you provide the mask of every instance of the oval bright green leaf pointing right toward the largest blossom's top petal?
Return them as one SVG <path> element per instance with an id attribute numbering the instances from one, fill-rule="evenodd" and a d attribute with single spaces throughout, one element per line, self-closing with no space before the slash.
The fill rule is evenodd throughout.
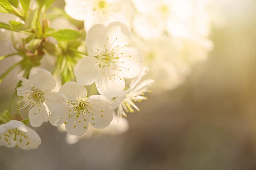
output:
<path id="1" fill-rule="evenodd" d="M 81 37 L 81 34 L 75 30 L 63 29 L 58 30 L 58 32 L 55 33 L 53 37 L 58 41 L 70 41 L 78 39 L 79 37 Z"/>

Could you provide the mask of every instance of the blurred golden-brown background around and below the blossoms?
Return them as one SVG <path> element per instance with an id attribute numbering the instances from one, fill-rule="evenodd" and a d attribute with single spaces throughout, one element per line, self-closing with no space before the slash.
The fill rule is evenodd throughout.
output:
<path id="1" fill-rule="evenodd" d="M 211 32 L 208 60 L 175 90 L 146 94 L 141 111 L 128 114 L 126 133 L 69 145 L 65 133 L 44 123 L 35 129 L 38 149 L 0 147 L 0 170 L 256 169 L 255 7 L 255 0 L 229 2 L 226 25 Z M 3 107 L 14 86 L 0 88 Z"/>

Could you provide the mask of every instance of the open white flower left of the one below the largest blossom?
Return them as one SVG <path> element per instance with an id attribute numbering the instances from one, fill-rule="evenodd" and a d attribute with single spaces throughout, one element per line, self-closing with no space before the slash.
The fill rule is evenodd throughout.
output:
<path id="1" fill-rule="evenodd" d="M 41 126 L 49 120 L 49 113 L 59 114 L 67 106 L 67 99 L 63 94 L 52 92 L 56 81 L 49 71 L 38 70 L 29 79 L 18 77 L 23 86 L 17 88 L 17 95 L 23 97 L 20 102 L 26 102 L 22 108 L 29 106 L 28 116 L 32 126 Z"/>

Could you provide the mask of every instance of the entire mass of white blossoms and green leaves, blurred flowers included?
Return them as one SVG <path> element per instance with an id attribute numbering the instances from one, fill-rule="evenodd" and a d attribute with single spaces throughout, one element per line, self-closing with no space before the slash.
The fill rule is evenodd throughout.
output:
<path id="1" fill-rule="evenodd" d="M 13 64 L 0 83 L 18 68 L 14 97 L 0 114 L 0 146 L 37 148 L 28 123 L 49 121 L 70 144 L 96 132 L 124 133 L 124 117 L 140 111 L 136 102 L 150 88 L 174 89 L 213 48 L 211 0 L 58 3 L 0 2 L 0 61 Z"/>

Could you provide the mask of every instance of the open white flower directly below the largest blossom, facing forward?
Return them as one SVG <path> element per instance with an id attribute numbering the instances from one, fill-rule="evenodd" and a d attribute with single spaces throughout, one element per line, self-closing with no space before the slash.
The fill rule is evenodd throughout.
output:
<path id="1" fill-rule="evenodd" d="M 106 128 L 113 119 L 108 99 L 102 95 L 87 96 L 83 85 L 75 82 L 65 83 L 59 90 L 67 97 L 68 105 L 62 113 L 50 115 L 54 126 L 65 124 L 67 133 L 83 135 L 90 124 L 98 129 Z"/>

